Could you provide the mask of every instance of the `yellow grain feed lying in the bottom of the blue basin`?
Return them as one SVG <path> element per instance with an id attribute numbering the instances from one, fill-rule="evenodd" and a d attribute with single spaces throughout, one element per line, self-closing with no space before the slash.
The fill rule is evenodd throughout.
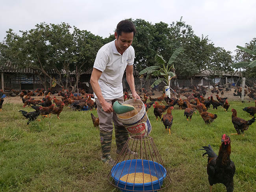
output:
<path id="1" fill-rule="evenodd" d="M 144 182 L 143 182 L 143 175 L 144 175 Z M 128 179 L 127 179 L 128 177 Z M 135 181 L 134 181 L 134 177 L 135 177 Z M 131 174 L 126 174 L 124 176 L 122 176 L 120 178 L 121 181 L 124 181 L 126 182 L 126 179 L 127 179 L 127 182 L 128 183 L 148 183 L 148 182 L 153 182 L 153 181 L 156 181 L 158 178 L 151 175 L 150 177 L 150 174 L 143 174 L 143 173 L 131 173 Z M 151 180 L 152 179 L 152 180 Z"/>

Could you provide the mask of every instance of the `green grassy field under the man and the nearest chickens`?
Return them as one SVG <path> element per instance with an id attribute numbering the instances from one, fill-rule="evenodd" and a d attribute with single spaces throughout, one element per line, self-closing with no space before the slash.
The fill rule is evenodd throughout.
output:
<path id="1" fill-rule="evenodd" d="M 235 192 L 256 191 L 256 123 L 245 136 L 236 133 L 231 122 L 231 109 L 246 120 L 250 116 L 243 107 L 252 103 L 230 102 L 228 113 L 222 108 L 211 113 L 218 118 L 205 125 L 197 113 L 186 121 L 184 110 L 174 106 L 171 135 L 167 135 L 161 122 L 157 122 L 153 107 L 148 111 L 154 139 L 172 183 L 165 192 L 206 192 L 209 188 L 206 173 L 207 158 L 202 146 L 211 144 L 218 153 L 221 136 L 231 138 L 230 158 L 236 165 Z M 110 167 L 100 161 L 99 131 L 93 127 L 89 111 L 71 111 L 67 107 L 60 114 L 41 122 L 26 125 L 18 111 L 20 104 L 4 103 L 0 113 L 0 191 L 5 192 L 117 192 L 106 179 Z M 24 110 L 24 109 L 22 109 Z M 31 108 L 25 108 L 33 111 Z M 92 112 L 96 115 L 96 111 Z M 116 146 L 113 134 L 112 157 Z M 224 192 L 222 184 L 213 186 L 213 192 Z"/>

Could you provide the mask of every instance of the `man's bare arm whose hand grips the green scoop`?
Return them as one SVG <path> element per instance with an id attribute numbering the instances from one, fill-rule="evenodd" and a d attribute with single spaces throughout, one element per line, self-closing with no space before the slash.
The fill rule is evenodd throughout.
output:
<path id="1" fill-rule="evenodd" d="M 113 112 L 112 105 L 110 103 L 106 102 L 106 100 L 104 99 L 102 92 L 100 90 L 100 85 L 98 83 L 98 80 L 99 80 L 101 74 L 102 74 L 102 72 L 100 70 L 93 68 L 93 72 L 91 74 L 91 80 L 90 80 L 91 87 L 93 88 L 93 91 L 96 94 L 103 111 L 105 111 L 107 113 L 111 113 L 111 112 Z"/>

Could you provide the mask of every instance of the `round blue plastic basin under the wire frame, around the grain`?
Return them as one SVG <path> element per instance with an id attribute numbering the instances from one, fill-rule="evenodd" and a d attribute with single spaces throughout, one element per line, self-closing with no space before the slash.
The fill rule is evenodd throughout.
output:
<path id="1" fill-rule="evenodd" d="M 163 184 L 163 179 L 166 177 L 165 168 L 157 162 L 143 160 L 143 166 L 141 162 L 141 159 L 122 161 L 117 163 L 116 166 L 112 168 L 111 177 L 114 179 L 115 185 L 117 185 L 121 191 L 143 191 L 144 188 L 144 191 L 153 192 L 154 190 L 158 190 L 161 188 Z M 125 181 L 119 180 L 122 176 L 128 174 L 128 172 L 129 174 L 132 174 L 134 172 L 144 172 L 145 174 L 151 173 L 152 176 L 158 177 L 158 180 L 144 183 L 144 186 L 143 183 L 126 183 Z"/>

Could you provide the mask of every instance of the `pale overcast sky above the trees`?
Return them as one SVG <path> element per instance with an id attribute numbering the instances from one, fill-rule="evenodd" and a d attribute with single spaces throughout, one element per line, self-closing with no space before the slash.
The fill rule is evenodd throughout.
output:
<path id="1" fill-rule="evenodd" d="M 67 22 L 108 37 L 125 18 L 171 24 L 183 17 L 197 36 L 234 52 L 256 37 L 256 0 L 2 0 L 0 41 L 11 28 L 30 30 L 37 23 Z"/>

